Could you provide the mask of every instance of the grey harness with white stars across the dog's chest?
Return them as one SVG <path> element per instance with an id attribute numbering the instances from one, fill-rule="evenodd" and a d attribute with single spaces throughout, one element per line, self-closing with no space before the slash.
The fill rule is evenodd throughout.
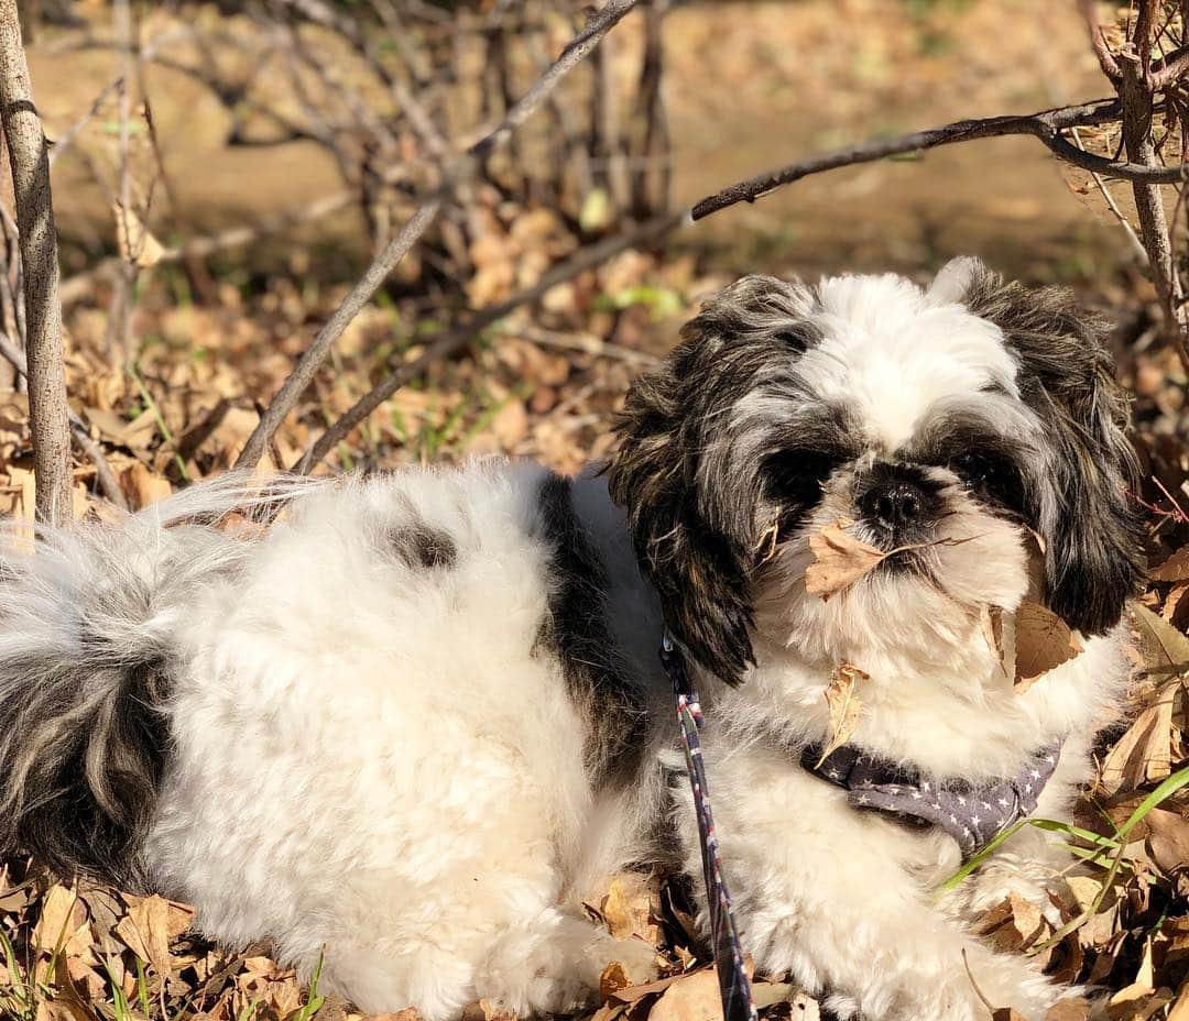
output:
<path id="1" fill-rule="evenodd" d="M 853 808 L 885 812 L 911 826 L 940 826 L 968 859 L 1036 809 L 1057 769 L 1061 745 L 1037 751 L 1015 776 L 986 783 L 926 779 L 849 744 L 831 751 L 820 764 L 820 746 L 810 745 L 801 751 L 801 765 L 843 788 Z"/>

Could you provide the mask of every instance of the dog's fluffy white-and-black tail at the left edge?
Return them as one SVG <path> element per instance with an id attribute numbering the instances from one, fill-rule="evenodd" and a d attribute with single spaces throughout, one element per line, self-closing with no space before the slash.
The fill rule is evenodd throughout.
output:
<path id="1" fill-rule="evenodd" d="M 207 527 L 315 483 L 201 484 L 115 525 L 0 536 L 0 852 L 143 884 L 168 757 L 177 625 L 250 543 Z"/>

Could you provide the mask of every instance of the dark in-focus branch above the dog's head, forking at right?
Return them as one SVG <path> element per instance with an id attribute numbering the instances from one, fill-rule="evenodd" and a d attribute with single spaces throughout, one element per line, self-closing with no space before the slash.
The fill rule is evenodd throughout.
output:
<path id="1" fill-rule="evenodd" d="M 1095 100 L 1080 106 L 1059 107 L 1032 114 L 1008 114 L 988 116 L 976 120 L 958 120 L 942 127 L 917 131 L 899 138 L 876 139 L 861 145 L 839 149 L 820 156 L 811 156 L 782 166 L 779 170 L 761 174 L 746 181 L 740 181 L 722 191 L 709 195 L 693 207 L 693 219 L 702 220 L 719 209 L 726 209 L 738 202 L 754 202 L 769 191 L 800 181 L 812 174 L 837 170 L 841 166 L 854 166 L 860 163 L 873 163 L 889 156 L 907 152 L 924 152 L 942 145 L 954 145 L 960 141 L 973 141 L 979 138 L 1002 138 L 1011 134 L 1030 134 L 1043 141 L 1053 155 L 1067 163 L 1099 174 L 1102 177 L 1119 177 L 1126 181 L 1138 181 L 1149 184 L 1172 184 L 1183 179 L 1179 166 L 1150 166 L 1139 163 L 1120 163 L 1084 152 L 1070 143 L 1062 132 L 1071 127 L 1089 127 L 1118 120 L 1121 107 L 1118 100 Z"/>

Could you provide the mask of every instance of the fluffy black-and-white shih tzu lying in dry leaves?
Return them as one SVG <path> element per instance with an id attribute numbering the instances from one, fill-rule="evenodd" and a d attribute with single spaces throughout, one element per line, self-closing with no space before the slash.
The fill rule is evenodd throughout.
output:
<path id="1" fill-rule="evenodd" d="M 229 478 L 46 531 L 0 565 L 0 850 L 325 954 L 365 1010 L 573 1009 L 654 968 L 581 910 L 598 877 L 700 887 L 667 628 L 755 968 L 842 1017 L 982 1017 L 973 977 L 1039 1021 L 1078 990 L 971 922 L 1052 912 L 1069 852 L 1025 826 L 939 888 L 1069 818 L 1122 699 L 1143 530 L 1101 335 L 973 259 L 751 276 L 636 382 L 605 471 Z M 218 525 L 253 503 L 270 528 Z M 814 591 L 830 529 L 879 562 Z M 1026 689 L 987 628 L 1025 600 L 1082 649 Z"/>

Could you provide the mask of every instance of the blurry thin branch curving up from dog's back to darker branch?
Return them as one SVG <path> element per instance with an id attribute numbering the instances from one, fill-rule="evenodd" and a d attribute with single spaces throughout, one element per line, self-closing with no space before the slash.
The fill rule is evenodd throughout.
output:
<path id="1" fill-rule="evenodd" d="M 419 358 L 405 365 L 401 365 L 391 376 L 357 401 L 350 411 L 319 436 L 317 442 L 304 453 L 301 460 L 292 466 L 292 469 L 302 474 L 312 471 L 356 426 L 363 422 L 410 379 L 415 379 L 433 363 L 449 358 L 454 352 L 461 351 L 474 341 L 483 330 L 502 320 L 509 313 L 515 311 L 521 305 L 536 301 L 551 288 L 555 288 L 558 284 L 577 277 L 584 270 L 592 269 L 606 261 L 624 248 L 640 245 L 652 238 L 659 238 L 661 234 L 679 226 L 682 221 L 686 221 L 688 215 L 688 210 L 682 210 L 668 216 L 659 216 L 648 223 L 641 223 L 638 227 L 625 231 L 622 234 L 590 245 L 546 272 L 533 286 L 518 291 L 507 301 L 477 311 L 467 322 L 454 327 L 438 338 Z"/>

